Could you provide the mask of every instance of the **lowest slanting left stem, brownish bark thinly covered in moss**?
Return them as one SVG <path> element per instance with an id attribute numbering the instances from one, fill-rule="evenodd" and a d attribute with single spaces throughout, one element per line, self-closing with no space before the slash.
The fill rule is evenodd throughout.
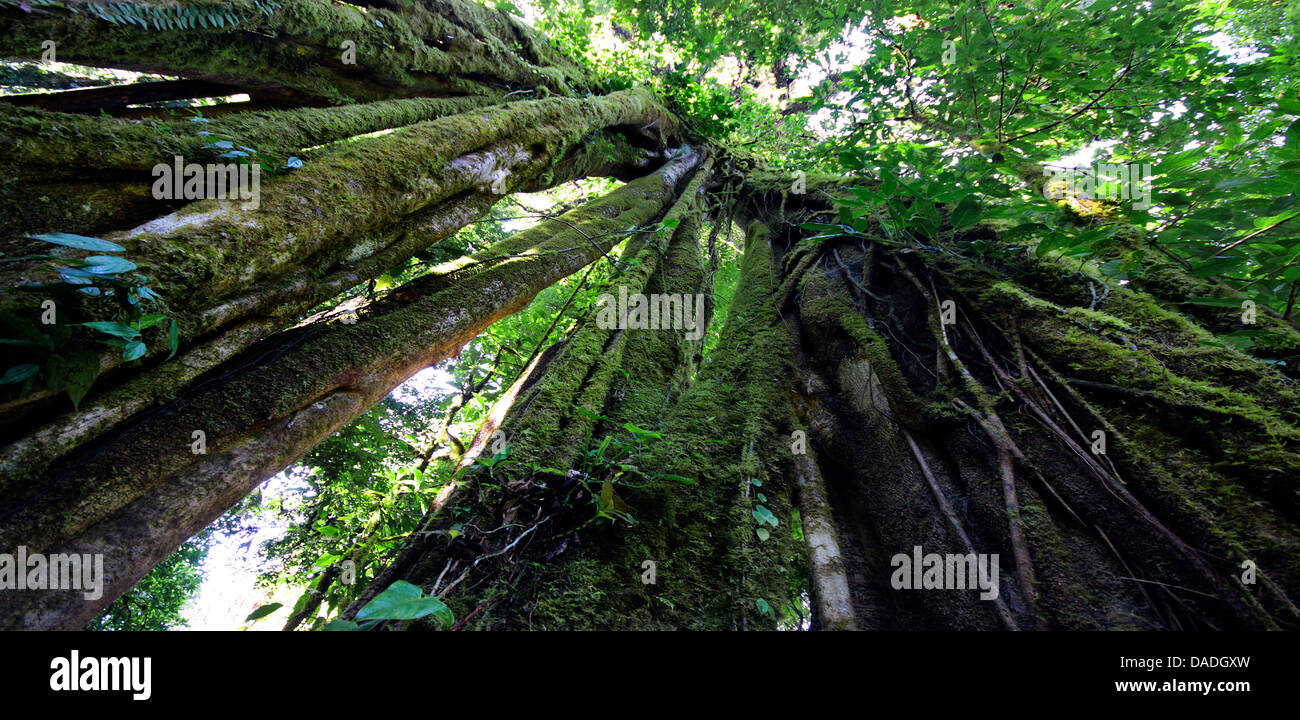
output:
<path id="1" fill-rule="evenodd" d="M 685 155 L 604 198 L 403 286 L 355 325 L 286 333 L 55 465 L 6 465 L 0 543 L 105 552 L 105 602 L 186 537 L 411 374 L 612 250 L 672 201 Z M 450 279 L 448 279 L 450 278 Z M 203 431 L 207 452 L 192 452 Z M 35 452 L 39 448 L 29 447 Z M 9 456 L 10 460 L 14 456 Z M 79 626 L 75 593 L 5 595 L 6 626 Z"/>

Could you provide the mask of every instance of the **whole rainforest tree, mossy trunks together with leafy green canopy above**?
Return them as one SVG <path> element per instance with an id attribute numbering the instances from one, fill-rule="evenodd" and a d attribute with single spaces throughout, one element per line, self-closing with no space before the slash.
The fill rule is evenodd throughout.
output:
<path id="1" fill-rule="evenodd" d="M 0 547 L 107 574 L 5 626 L 86 624 L 308 452 L 378 499 L 304 526 L 348 542 L 289 628 L 1300 620 L 1294 9 L 510 10 L 0 0 L 5 57 L 146 74 L 0 97 Z M 188 192 L 221 164 L 254 192 Z M 368 413 L 463 348 L 374 490 L 332 437 L 395 442 Z M 996 597 L 900 590 L 914 548 Z"/>

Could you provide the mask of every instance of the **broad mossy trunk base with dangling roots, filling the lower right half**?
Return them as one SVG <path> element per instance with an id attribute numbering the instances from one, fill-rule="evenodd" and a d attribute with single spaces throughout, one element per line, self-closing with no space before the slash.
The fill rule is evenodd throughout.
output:
<path id="1" fill-rule="evenodd" d="M 1058 261 L 807 239 L 783 218 L 829 208 L 748 199 L 694 379 L 672 379 L 689 354 L 627 351 L 663 331 L 588 318 L 514 396 L 508 459 L 467 469 L 346 616 L 404 578 L 458 628 L 770 628 L 801 599 L 814 628 L 1295 626 L 1294 381 Z M 916 546 L 997 554 L 998 597 L 894 589 Z"/>

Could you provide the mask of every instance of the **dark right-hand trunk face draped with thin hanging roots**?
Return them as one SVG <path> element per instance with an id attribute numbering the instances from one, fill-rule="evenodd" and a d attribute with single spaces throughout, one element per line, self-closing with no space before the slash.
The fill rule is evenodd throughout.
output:
<path id="1" fill-rule="evenodd" d="M 853 493 L 862 499 L 854 502 L 867 503 L 866 530 L 884 552 L 920 541 L 941 545 L 928 535 L 932 525 L 926 511 L 901 494 L 911 476 L 928 490 L 933 520 L 966 552 L 1005 543 L 1014 558 L 1017 591 L 1006 591 L 1006 603 L 989 603 L 996 611 L 991 616 L 1004 628 L 1278 628 L 1295 623 L 1288 584 L 1275 577 L 1300 547 L 1290 495 L 1279 487 L 1273 504 L 1249 506 L 1249 513 L 1240 515 L 1238 508 L 1247 506 L 1234 495 L 1268 489 L 1260 478 L 1218 480 L 1210 473 L 1232 472 L 1235 465 L 1190 464 L 1197 460 L 1186 454 L 1205 452 L 1197 444 L 1166 451 L 1175 455 L 1148 456 L 1132 439 L 1164 433 L 1170 421 L 1161 413 L 1169 412 L 1266 422 L 1268 411 L 1256 412 L 1245 395 L 1208 385 L 1221 379 L 1192 385 L 1175 376 L 1204 372 L 1204 360 L 1196 365 L 1174 355 L 1182 351 L 1179 343 L 1196 347 L 1193 352 L 1201 356 L 1219 352 L 1197 347 L 1195 329 L 1183 329 L 1190 328 L 1186 320 L 1134 305 L 1123 289 L 1093 286 L 1089 291 L 1080 285 L 1078 309 L 1061 308 L 1020 290 L 1043 279 L 1030 273 L 988 273 L 953 253 L 880 243 L 822 242 L 809 248 L 797 237 L 792 231 L 781 299 L 798 309 L 802 352 L 819 364 L 818 372 L 838 381 L 819 391 L 818 402 L 835 408 L 838 417 L 836 431 L 820 435 L 820 464 L 857 468 L 850 472 L 861 485 Z M 1067 290 L 1057 276 L 1035 268 L 1048 278 L 1050 296 Z M 1008 277 L 1020 277 L 1026 285 L 1013 286 Z M 1147 317 L 1117 316 L 1115 303 L 1127 303 L 1124 309 L 1138 307 Z M 993 317 L 1001 321 L 994 324 Z M 1154 317 L 1157 328 L 1144 328 L 1148 317 Z M 1087 335 L 1076 326 L 1087 328 L 1093 338 L 1101 335 L 1092 341 L 1097 350 L 1062 350 L 1048 342 L 1065 337 L 1082 343 Z M 1106 335 L 1115 338 L 1113 344 Z M 1087 372 L 1089 363 L 1108 359 L 1109 347 L 1122 348 L 1115 352 L 1123 352 L 1126 361 L 1153 361 L 1149 366 L 1176 392 L 1144 382 L 1121 382 L 1112 390 L 1109 385 L 1123 379 L 1119 373 L 1108 382 Z M 1271 390 L 1278 381 L 1269 376 L 1261 382 Z M 1284 402 L 1277 417 L 1300 416 L 1294 389 L 1271 391 Z M 1234 408 L 1245 412 L 1235 415 Z M 863 430 L 852 430 L 855 425 Z M 1269 428 L 1275 433 L 1279 426 Z M 897 443 L 889 439 L 890 431 L 901 438 Z M 1271 437 L 1292 443 L 1291 433 L 1286 428 Z M 1101 450 L 1098 437 L 1109 442 Z M 1161 437 L 1170 439 L 1190 442 Z M 897 447 L 919 472 L 889 478 L 880 470 L 902 470 Z M 1234 451 L 1222 438 L 1213 447 Z M 1261 461 L 1284 465 L 1295 459 L 1290 452 Z M 1166 465 L 1171 460 L 1176 469 Z M 1214 477 L 1216 485 L 1188 487 L 1179 474 L 1193 469 L 1200 477 Z M 827 481 L 842 483 L 838 473 L 827 473 Z M 989 524 L 994 498 L 1001 533 Z M 920 517 L 909 519 L 918 512 Z M 1244 517 L 1251 524 L 1239 520 Z M 841 537 L 848 532 L 837 530 Z M 1261 538 L 1278 538 L 1282 545 Z M 1243 548 L 1244 542 L 1252 550 Z M 1243 555 L 1270 559 L 1274 577 L 1261 574 L 1254 586 L 1262 594 L 1238 582 L 1230 569 L 1239 563 L 1230 558 Z M 850 591 L 861 587 L 850 582 Z M 905 624 L 916 621 L 911 619 L 916 604 L 926 613 L 944 616 L 944 626 L 970 623 L 958 600 L 901 598 Z"/>

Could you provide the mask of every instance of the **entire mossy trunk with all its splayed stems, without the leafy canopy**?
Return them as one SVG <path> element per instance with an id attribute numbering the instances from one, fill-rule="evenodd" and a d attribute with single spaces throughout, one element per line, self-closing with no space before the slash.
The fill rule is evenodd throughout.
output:
<path id="1" fill-rule="evenodd" d="M 708 294 L 708 246 L 733 222 L 741 278 L 707 359 L 694 334 L 620 330 L 593 309 L 476 439 L 482 452 L 506 433 L 508 457 L 464 469 L 346 616 L 402 578 L 439 594 L 458 628 L 771 628 L 805 598 L 811 626 L 832 629 L 1300 620 L 1300 392 L 1206 344 L 1202 322 L 1222 318 L 1182 315 L 1176 279 L 1148 295 L 1050 259 L 809 238 L 800 224 L 833 217 L 824 195 L 686 148 L 644 90 L 588 96 L 599 88 L 575 65 L 494 10 L 220 6 L 234 19 L 143 30 L 86 3 L 0 3 L 5 55 L 56 36 L 64 60 L 254 96 L 209 123 L 0 103 L 0 174 L 16 178 L 0 186 L 5 255 L 36 252 L 31 233 L 103 235 L 181 320 L 176 359 L 103 355 L 78 409 L 49 387 L 3 398 L 0 547 L 104 552 L 109 582 L 100 603 L 6 593 L 0 625 L 79 626 L 399 382 L 624 239 L 615 292 Z M 344 39 L 355 65 L 337 60 Z M 358 104 L 324 107 L 338 100 Z M 200 125 L 306 164 L 269 177 L 256 209 L 160 205 L 148 169 L 211 160 Z M 504 192 L 584 175 L 628 182 L 356 324 L 286 329 Z M 44 199 L 27 201 L 31 187 Z M 941 233 L 998 242 L 996 227 Z M 43 273 L 4 265 L 8 318 L 35 322 L 44 296 L 17 286 Z M 103 312 L 74 292 L 57 307 L 60 322 Z M 890 559 L 916 546 L 997 554 L 997 599 L 894 590 Z"/>

